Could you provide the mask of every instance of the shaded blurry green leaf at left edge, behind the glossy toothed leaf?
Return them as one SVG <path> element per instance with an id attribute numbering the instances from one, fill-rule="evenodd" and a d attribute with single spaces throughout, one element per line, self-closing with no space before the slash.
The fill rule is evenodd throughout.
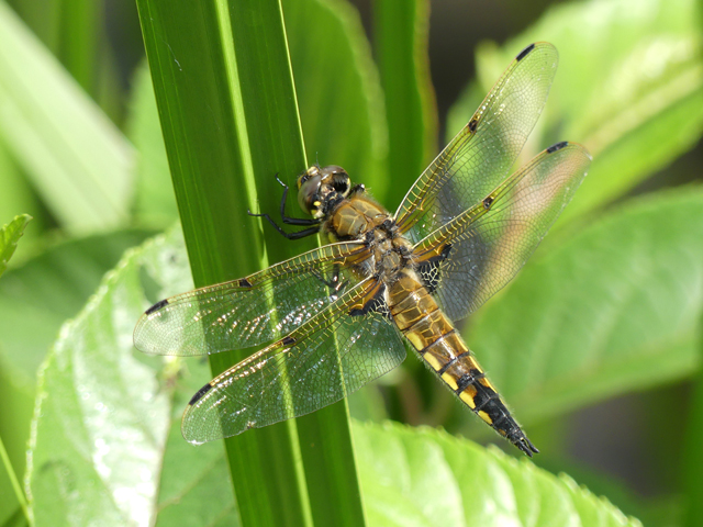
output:
<path id="1" fill-rule="evenodd" d="M 75 316 L 141 231 L 62 242 L 0 279 L 0 437 L 20 479 L 24 473 L 36 371 L 60 325 Z"/>

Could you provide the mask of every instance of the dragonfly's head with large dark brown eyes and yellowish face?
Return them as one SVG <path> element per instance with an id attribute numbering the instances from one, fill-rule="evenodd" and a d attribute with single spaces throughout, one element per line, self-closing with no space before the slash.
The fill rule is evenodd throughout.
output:
<path id="1" fill-rule="evenodd" d="M 349 188 L 349 175 L 344 168 L 336 165 L 320 168 L 313 165 L 298 178 L 298 203 L 305 214 L 322 217 L 325 214 L 325 203 L 338 197 L 346 198 Z"/>

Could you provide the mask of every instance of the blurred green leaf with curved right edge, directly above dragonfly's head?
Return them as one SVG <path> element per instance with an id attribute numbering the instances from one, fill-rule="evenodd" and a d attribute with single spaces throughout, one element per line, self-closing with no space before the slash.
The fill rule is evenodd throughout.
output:
<path id="1" fill-rule="evenodd" d="M 346 0 L 282 4 L 308 159 L 341 165 L 383 194 L 383 94 L 359 14 Z"/>

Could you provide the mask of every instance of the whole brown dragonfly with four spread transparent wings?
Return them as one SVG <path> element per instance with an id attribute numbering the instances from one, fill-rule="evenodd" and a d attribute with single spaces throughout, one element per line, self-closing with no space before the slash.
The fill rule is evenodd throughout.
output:
<path id="1" fill-rule="evenodd" d="M 314 165 L 297 180 L 308 217 L 286 215 L 281 182 L 281 221 L 304 228 L 288 233 L 258 215 L 290 239 L 320 234 L 327 245 L 146 310 L 134 330 L 146 354 L 261 347 L 192 396 L 186 440 L 221 439 L 335 403 L 399 366 L 406 341 L 498 434 L 529 457 L 538 452 L 456 324 L 517 273 L 587 175 L 591 156 L 568 142 L 510 175 L 557 63 L 549 43 L 525 47 L 395 214 L 352 186 L 343 168 Z"/>

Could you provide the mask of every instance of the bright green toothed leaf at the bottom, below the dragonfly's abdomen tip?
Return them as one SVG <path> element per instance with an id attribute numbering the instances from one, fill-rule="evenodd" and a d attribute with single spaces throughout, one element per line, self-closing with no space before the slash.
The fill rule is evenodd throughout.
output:
<path id="1" fill-rule="evenodd" d="M 354 427 L 369 525 L 640 526 L 527 460 L 432 428 Z"/>

